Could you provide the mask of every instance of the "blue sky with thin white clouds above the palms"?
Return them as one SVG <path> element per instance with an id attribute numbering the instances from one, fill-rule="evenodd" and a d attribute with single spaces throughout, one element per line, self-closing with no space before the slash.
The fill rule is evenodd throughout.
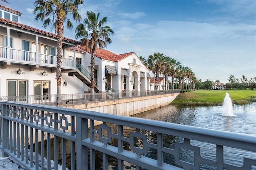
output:
<path id="1" fill-rule="evenodd" d="M 22 24 L 54 33 L 34 21 L 35 0 L 7 1 L 22 12 Z M 134 51 L 145 59 L 160 52 L 190 67 L 202 81 L 256 77 L 255 0 L 84 0 L 82 20 L 89 10 L 108 17 L 115 33 L 108 51 Z M 64 36 L 76 40 L 78 23 L 72 24 Z"/>

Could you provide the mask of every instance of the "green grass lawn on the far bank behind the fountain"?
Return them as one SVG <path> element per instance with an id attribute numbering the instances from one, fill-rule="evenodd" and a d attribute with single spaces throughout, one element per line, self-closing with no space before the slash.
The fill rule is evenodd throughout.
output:
<path id="1" fill-rule="evenodd" d="M 172 105 L 222 105 L 226 92 L 238 105 L 256 102 L 256 91 L 253 90 L 198 90 L 180 93 Z"/>

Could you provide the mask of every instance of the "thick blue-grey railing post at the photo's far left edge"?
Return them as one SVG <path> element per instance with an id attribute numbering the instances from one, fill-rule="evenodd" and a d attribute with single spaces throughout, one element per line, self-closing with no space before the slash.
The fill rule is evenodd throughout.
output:
<path id="1" fill-rule="evenodd" d="M 7 141 L 8 141 L 8 138 L 9 138 L 9 135 L 8 135 L 8 126 L 7 126 L 7 119 L 4 119 L 4 116 L 7 115 L 7 105 L 1 105 L 1 121 L 2 121 L 2 127 L 1 127 L 1 130 L 2 130 L 2 156 L 3 157 L 7 157 L 8 154 L 6 154 L 4 152 L 5 149 L 7 149 Z"/>

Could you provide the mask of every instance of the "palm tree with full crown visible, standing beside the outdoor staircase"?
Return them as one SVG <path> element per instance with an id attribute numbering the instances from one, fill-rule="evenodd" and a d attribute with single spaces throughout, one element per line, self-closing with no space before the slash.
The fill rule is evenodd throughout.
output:
<path id="1" fill-rule="evenodd" d="M 99 20 L 100 13 L 97 15 L 92 11 L 86 12 L 86 18 L 82 24 L 76 27 L 76 39 L 80 39 L 82 45 L 85 45 L 86 50 L 90 50 L 91 57 L 91 87 L 90 92 L 94 93 L 94 62 L 95 53 L 98 48 L 102 49 L 112 42 L 110 35 L 114 31 L 110 26 L 105 26 L 108 18 L 105 16 Z"/>

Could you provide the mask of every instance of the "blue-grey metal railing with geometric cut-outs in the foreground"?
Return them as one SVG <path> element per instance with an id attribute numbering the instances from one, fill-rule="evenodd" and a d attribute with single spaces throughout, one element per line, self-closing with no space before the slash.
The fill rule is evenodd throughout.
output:
<path id="1" fill-rule="evenodd" d="M 26 169 L 58 169 L 58 163 L 71 170 L 256 168 L 252 135 L 7 101 L 0 110 L 3 156 Z"/>

